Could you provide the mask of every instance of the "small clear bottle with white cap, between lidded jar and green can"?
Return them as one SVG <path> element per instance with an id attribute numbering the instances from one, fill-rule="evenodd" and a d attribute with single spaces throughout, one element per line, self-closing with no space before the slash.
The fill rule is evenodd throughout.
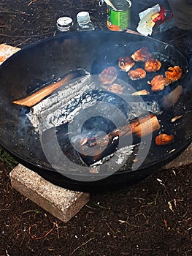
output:
<path id="1" fill-rule="evenodd" d="M 95 30 L 88 12 L 77 13 L 77 31 Z"/>

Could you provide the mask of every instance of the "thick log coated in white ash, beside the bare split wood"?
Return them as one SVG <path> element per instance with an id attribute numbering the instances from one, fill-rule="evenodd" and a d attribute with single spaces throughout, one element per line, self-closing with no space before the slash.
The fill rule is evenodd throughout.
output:
<path id="1" fill-rule="evenodd" d="M 94 89 L 94 84 L 91 75 L 86 75 L 72 80 L 31 108 L 27 116 L 36 132 L 39 132 L 39 129 L 43 132 L 45 129 L 65 124 L 71 121 L 82 107 L 93 105 L 96 99 L 93 100 L 89 96 L 81 98 L 81 95 L 89 89 Z"/>

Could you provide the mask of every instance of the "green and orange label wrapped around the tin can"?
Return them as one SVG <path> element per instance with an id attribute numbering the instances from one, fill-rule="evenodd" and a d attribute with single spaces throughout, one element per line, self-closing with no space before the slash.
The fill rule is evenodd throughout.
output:
<path id="1" fill-rule="evenodd" d="M 130 7 L 126 10 L 114 10 L 107 5 L 107 28 L 113 31 L 123 31 L 127 29 L 130 23 Z"/>

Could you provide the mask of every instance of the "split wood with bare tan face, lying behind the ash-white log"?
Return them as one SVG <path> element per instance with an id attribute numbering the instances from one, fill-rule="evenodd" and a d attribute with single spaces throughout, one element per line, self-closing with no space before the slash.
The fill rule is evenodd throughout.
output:
<path id="1" fill-rule="evenodd" d="M 82 71 L 86 74 L 85 70 L 83 70 L 83 69 L 73 70 L 73 71 L 67 73 L 66 75 L 64 75 L 64 77 L 61 78 L 61 80 L 58 80 L 55 83 L 50 83 L 50 85 L 45 86 L 44 88 L 39 89 L 38 91 L 35 91 L 33 94 L 29 95 L 28 97 L 15 100 L 15 101 L 13 101 L 13 103 L 18 104 L 18 105 L 27 106 L 27 107 L 32 107 L 32 106 L 36 105 L 37 103 L 39 103 L 42 99 L 44 99 L 48 95 L 52 94 L 53 91 L 55 91 L 59 87 L 63 86 L 64 83 L 67 83 L 67 82 L 69 82 L 69 80 L 72 80 L 74 78 L 78 78 L 78 77 L 82 76 L 83 75 Z"/>

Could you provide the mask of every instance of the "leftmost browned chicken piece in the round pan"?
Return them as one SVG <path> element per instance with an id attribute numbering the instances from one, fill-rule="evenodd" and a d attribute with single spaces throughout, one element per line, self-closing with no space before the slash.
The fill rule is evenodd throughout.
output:
<path id="1" fill-rule="evenodd" d="M 117 76 L 118 76 L 118 71 L 115 67 L 107 67 L 101 72 L 101 74 L 99 74 L 101 83 L 104 85 L 113 83 L 117 78 Z"/>

